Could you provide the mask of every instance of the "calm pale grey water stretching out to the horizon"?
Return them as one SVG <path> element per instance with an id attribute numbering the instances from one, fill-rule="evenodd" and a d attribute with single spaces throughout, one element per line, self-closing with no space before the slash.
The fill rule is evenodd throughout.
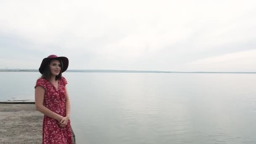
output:
<path id="1" fill-rule="evenodd" d="M 78 144 L 255 144 L 255 74 L 72 73 Z M 39 72 L 0 72 L 0 100 L 34 99 Z"/>

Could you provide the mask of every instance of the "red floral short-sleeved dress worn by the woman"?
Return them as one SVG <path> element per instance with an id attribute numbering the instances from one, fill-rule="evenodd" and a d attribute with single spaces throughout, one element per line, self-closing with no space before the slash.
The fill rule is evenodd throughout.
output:
<path id="1" fill-rule="evenodd" d="M 43 78 L 37 80 L 37 85 L 45 88 L 43 105 L 63 117 L 66 116 L 66 91 L 67 80 L 64 77 L 58 80 L 59 89 Z M 43 144 L 72 144 L 70 120 L 65 128 L 61 128 L 58 121 L 44 115 L 43 117 Z"/>

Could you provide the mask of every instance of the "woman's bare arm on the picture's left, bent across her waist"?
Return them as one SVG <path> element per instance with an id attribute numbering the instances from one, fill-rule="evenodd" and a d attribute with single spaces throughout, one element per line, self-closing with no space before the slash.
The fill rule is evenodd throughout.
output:
<path id="1" fill-rule="evenodd" d="M 35 88 L 35 107 L 39 112 L 42 112 L 44 115 L 47 115 L 48 117 L 51 117 L 55 120 L 58 120 L 58 122 L 60 122 L 62 120 L 62 116 L 56 114 L 55 112 L 51 111 L 50 109 L 48 109 L 47 107 L 45 107 L 43 105 L 43 99 L 44 99 L 44 95 L 45 95 L 45 89 L 38 85 Z"/>

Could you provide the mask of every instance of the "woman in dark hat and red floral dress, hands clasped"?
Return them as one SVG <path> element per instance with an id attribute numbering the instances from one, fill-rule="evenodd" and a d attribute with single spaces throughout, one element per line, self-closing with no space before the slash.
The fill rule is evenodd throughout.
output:
<path id="1" fill-rule="evenodd" d="M 42 77 L 35 85 L 35 106 L 44 114 L 43 144 L 72 144 L 67 80 L 61 75 L 68 65 L 66 57 L 51 55 L 39 68 Z"/>

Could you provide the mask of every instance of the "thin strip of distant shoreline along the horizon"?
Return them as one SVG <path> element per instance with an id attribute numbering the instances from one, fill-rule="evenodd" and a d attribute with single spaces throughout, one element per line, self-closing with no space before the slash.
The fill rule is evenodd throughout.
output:
<path id="1" fill-rule="evenodd" d="M 37 69 L 0 69 L 0 72 L 39 72 L 39 71 Z M 67 70 L 66 72 L 256 74 L 256 72 L 169 72 L 169 71 L 111 70 L 111 69 L 70 69 L 70 70 Z"/>

